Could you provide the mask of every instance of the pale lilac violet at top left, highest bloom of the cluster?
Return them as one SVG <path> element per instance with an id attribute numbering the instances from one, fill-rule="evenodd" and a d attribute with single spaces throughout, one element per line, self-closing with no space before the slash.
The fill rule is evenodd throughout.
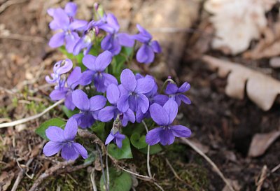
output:
<path id="1" fill-rule="evenodd" d="M 69 9 L 73 8 L 69 6 Z M 73 17 L 69 17 L 62 8 L 56 8 L 49 12 L 53 17 L 52 22 L 50 22 L 50 29 L 62 30 L 50 38 L 50 47 L 57 48 L 64 45 L 65 42 L 66 50 L 70 53 L 73 52 L 74 45 L 80 38 L 76 30 L 84 29 L 87 22 L 85 20 L 73 20 Z"/>

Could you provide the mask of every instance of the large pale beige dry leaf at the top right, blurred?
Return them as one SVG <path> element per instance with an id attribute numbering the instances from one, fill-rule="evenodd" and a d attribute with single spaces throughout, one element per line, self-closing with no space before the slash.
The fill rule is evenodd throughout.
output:
<path id="1" fill-rule="evenodd" d="M 265 13 L 274 3 L 276 0 L 208 0 L 204 9 L 213 14 L 210 20 L 216 29 L 213 48 L 231 54 L 246 50 L 267 26 Z"/>

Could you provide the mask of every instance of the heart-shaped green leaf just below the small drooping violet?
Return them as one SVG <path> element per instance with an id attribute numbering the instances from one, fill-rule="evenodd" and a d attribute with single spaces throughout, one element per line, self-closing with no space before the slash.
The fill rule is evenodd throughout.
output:
<path id="1" fill-rule="evenodd" d="M 116 160 L 132 159 L 133 156 L 130 148 L 130 139 L 127 137 L 123 139 L 122 148 L 118 148 L 118 146 L 113 143 L 109 144 L 108 152 Z"/>

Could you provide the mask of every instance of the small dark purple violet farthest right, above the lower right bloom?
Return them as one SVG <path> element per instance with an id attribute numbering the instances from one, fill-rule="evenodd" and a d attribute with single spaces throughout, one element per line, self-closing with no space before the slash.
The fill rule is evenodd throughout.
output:
<path id="1" fill-rule="evenodd" d="M 177 87 L 174 83 L 169 83 L 167 85 L 167 89 L 165 90 L 166 94 L 169 94 L 169 99 L 174 99 L 178 106 L 181 105 L 181 101 L 183 101 L 185 104 L 191 104 L 190 99 L 184 95 L 184 92 L 187 92 L 190 90 L 190 84 L 189 83 L 183 83 L 181 87 Z"/>

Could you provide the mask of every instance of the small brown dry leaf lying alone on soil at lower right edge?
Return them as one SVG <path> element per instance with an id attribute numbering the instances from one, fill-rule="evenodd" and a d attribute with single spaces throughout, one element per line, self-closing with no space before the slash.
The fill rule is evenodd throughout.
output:
<path id="1" fill-rule="evenodd" d="M 258 157 L 265 153 L 265 150 L 278 139 L 280 131 L 270 132 L 268 134 L 255 134 L 248 151 L 249 157 Z"/>

